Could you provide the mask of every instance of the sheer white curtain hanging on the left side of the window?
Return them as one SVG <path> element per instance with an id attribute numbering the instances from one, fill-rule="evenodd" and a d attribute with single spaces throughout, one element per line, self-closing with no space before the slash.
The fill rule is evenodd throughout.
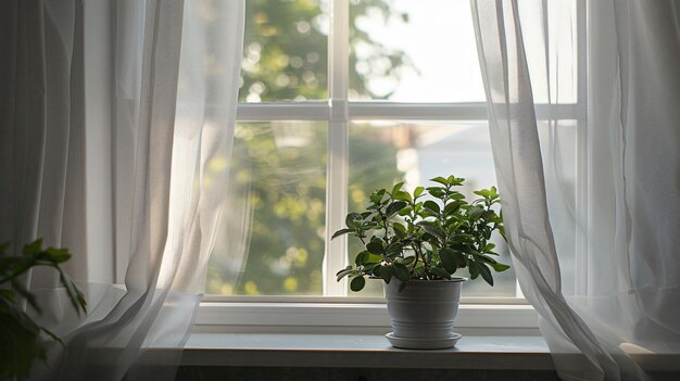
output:
<path id="1" fill-rule="evenodd" d="M 71 272 L 88 291 L 90 304 L 85 319 L 64 316 L 60 303 L 42 317 L 67 347 L 54 346 L 50 367 L 35 369 L 36 379 L 119 380 L 126 373 L 146 379 L 144 369 L 134 367 L 143 350 L 180 348 L 223 214 L 244 1 L 110 4 L 115 25 L 105 41 L 115 60 L 111 135 L 121 158 L 114 170 L 115 206 L 123 209 L 112 236 L 122 237 L 115 239 L 116 255 L 128 258 L 125 291 L 77 267 L 113 261 L 86 251 L 87 229 L 101 227 L 86 227 L 85 211 L 114 203 L 102 198 L 101 204 L 85 204 L 84 157 L 91 148 L 84 136 L 91 127 L 84 114 L 93 112 L 90 106 L 112 105 L 84 102 L 84 5 L 10 1 L 2 5 L 9 13 L 0 12 L 9 23 L 3 23 L 8 34 L 0 43 L 14 52 L 1 67 L 3 78 L 13 80 L 2 87 L 0 174 L 12 187 L 3 187 L 0 198 L 10 211 L 0 240 L 43 237 L 48 244 L 68 246 L 75 264 Z M 59 293 L 49 274 L 33 278 L 36 292 Z M 176 360 L 179 354 L 174 353 Z"/>

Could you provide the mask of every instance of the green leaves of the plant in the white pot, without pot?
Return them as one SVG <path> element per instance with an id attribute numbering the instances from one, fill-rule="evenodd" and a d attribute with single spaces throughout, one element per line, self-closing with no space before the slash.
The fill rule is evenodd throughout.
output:
<path id="1" fill-rule="evenodd" d="M 338 271 L 338 280 L 352 278 L 350 288 L 360 291 L 365 277 L 390 282 L 396 278 L 405 287 L 411 279 L 452 279 L 467 268 L 471 279 L 479 276 L 493 285 L 491 270 L 505 271 L 508 265 L 496 262 L 491 237 L 498 231 L 505 239 L 503 218 L 494 205 L 500 202 L 495 187 L 475 191 L 479 199 L 468 203 L 455 190 L 465 179 L 436 177 L 435 187 L 373 192 L 362 213 L 350 213 L 347 228 L 333 233 L 358 238 L 365 250 L 354 265 Z"/>

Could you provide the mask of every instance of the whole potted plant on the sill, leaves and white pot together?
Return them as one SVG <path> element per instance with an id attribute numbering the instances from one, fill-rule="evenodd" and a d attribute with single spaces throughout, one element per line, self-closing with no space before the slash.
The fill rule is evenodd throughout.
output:
<path id="1" fill-rule="evenodd" d="M 366 278 L 383 280 L 393 329 L 386 336 L 398 347 L 454 346 L 461 335 L 453 332 L 453 319 L 467 280 L 457 270 L 493 285 L 492 271 L 509 268 L 494 258 L 491 242 L 494 232 L 505 239 L 495 187 L 475 191 L 479 198 L 468 203 L 456 190 L 465 179 L 431 181 L 437 185 L 413 193 L 403 182 L 374 191 L 366 209 L 348 214 L 347 228 L 331 238 L 350 234 L 363 243 L 338 281 L 349 277 L 350 289 L 361 291 Z"/>

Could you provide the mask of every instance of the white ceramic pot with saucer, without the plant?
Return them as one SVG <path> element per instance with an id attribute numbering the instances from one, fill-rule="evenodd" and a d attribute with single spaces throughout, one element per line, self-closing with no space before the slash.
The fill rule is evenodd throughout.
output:
<path id="1" fill-rule="evenodd" d="M 400 292 L 401 281 L 385 283 L 392 345 L 408 348 L 444 348 L 455 345 L 459 334 L 453 332 L 458 312 L 461 285 L 465 278 L 454 280 L 411 280 Z"/>

